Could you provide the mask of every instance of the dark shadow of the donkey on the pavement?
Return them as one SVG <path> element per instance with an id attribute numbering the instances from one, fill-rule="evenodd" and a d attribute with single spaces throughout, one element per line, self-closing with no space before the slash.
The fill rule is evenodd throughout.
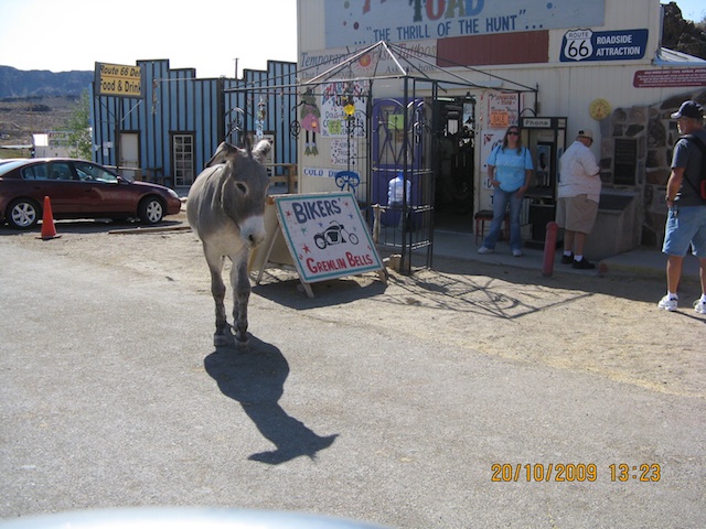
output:
<path id="1" fill-rule="evenodd" d="M 204 367 L 223 395 L 237 400 L 260 433 L 276 446 L 248 460 L 270 465 L 301 455 L 313 460 L 338 438 L 338 434 L 317 435 L 279 406 L 289 364 L 274 345 L 250 336 L 246 348 L 216 348 L 205 358 Z"/>

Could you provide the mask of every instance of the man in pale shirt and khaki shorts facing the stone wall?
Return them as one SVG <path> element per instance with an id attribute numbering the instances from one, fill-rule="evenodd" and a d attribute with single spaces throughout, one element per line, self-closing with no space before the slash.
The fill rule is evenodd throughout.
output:
<path id="1" fill-rule="evenodd" d="M 557 186 L 556 224 L 564 228 L 561 262 L 582 270 L 596 268 L 584 257 L 586 236 L 593 229 L 600 201 L 600 169 L 589 149 L 592 143 L 593 132 L 580 129 L 559 160 Z"/>

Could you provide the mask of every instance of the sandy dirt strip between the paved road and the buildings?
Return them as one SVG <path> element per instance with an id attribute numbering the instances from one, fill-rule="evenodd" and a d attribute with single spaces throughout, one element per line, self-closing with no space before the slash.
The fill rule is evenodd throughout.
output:
<path id="1" fill-rule="evenodd" d="M 129 224 L 56 223 L 61 238 L 0 228 L 0 245 L 26 245 L 76 257 L 97 267 L 122 267 L 136 276 L 163 277 L 210 295 L 208 272 L 185 216 L 168 217 L 170 230 L 136 235 Z M 435 258 L 435 270 L 391 271 L 313 285 L 308 299 L 293 271 L 268 269 L 250 299 L 250 332 L 258 310 L 299 311 L 302 319 L 395 327 L 439 343 L 558 369 L 590 371 L 664 393 L 706 398 L 706 316 L 688 292 L 680 312 L 656 309 L 663 281 L 619 276 L 555 273 Z M 228 309 L 229 310 L 229 309 Z M 332 327 L 333 328 L 333 327 Z"/>

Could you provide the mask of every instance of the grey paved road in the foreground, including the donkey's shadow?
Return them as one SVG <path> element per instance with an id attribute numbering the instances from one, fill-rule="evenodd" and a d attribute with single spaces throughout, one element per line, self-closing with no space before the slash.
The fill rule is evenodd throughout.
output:
<path id="1" fill-rule="evenodd" d="M 0 518 L 213 506 L 397 528 L 706 527 L 702 396 L 481 354 L 440 339 L 442 320 L 366 325 L 402 288 L 375 282 L 306 307 L 282 303 L 291 283 L 260 290 L 249 348 L 214 349 L 204 289 L 1 248 Z"/>

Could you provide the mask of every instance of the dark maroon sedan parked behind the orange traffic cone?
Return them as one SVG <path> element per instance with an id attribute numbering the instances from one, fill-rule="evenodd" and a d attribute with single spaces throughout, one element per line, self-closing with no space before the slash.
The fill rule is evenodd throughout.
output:
<path id="1" fill-rule="evenodd" d="M 0 224 L 28 229 L 42 218 L 49 196 L 53 218 L 139 218 L 157 224 L 181 208 L 173 190 L 130 182 L 113 170 L 67 158 L 0 163 Z"/>

